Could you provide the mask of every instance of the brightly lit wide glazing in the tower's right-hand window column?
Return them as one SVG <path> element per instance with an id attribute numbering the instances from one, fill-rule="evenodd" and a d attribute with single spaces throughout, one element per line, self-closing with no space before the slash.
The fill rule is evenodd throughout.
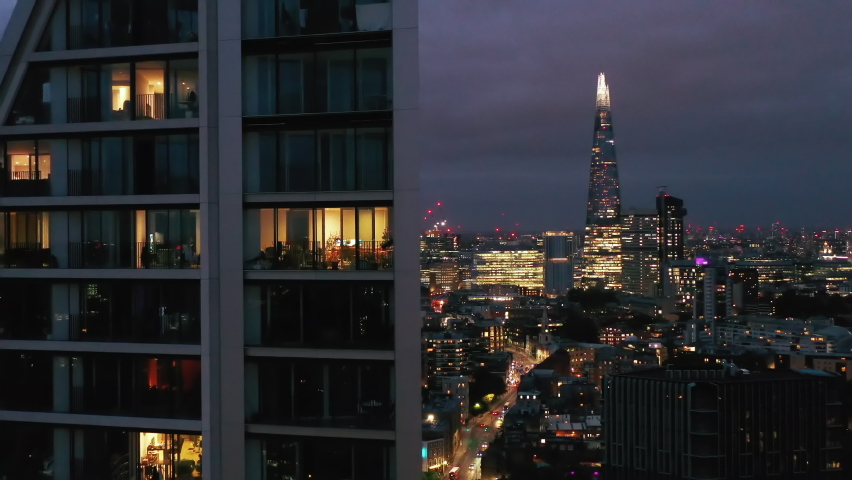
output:
<path id="1" fill-rule="evenodd" d="M 263 208 L 244 219 L 247 270 L 393 268 L 389 207 Z"/>

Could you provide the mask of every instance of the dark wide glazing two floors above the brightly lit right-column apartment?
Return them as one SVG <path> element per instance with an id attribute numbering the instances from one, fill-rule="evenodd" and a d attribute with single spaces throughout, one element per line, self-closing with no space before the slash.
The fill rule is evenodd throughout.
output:
<path id="1" fill-rule="evenodd" d="M 243 113 L 391 110 L 390 48 L 253 55 L 243 61 Z"/>

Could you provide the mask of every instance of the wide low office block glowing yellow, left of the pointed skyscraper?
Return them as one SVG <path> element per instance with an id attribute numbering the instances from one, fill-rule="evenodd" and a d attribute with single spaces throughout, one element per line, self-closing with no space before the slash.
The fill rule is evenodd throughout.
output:
<path id="1" fill-rule="evenodd" d="M 526 292 L 541 292 L 544 287 L 544 255 L 538 250 L 476 252 L 473 281 L 480 286 L 513 285 Z"/>

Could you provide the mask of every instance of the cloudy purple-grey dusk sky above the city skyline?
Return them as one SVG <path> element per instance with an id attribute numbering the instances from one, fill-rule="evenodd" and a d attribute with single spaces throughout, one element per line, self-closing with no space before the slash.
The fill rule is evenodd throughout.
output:
<path id="1" fill-rule="evenodd" d="M 424 213 L 441 201 L 462 231 L 582 226 L 605 72 L 625 207 L 667 185 L 692 223 L 852 226 L 852 2 L 420 9 Z"/>

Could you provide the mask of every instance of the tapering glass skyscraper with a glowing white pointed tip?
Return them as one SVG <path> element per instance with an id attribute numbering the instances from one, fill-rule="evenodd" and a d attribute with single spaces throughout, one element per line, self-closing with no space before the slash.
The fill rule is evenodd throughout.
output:
<path id="1" fill-rule="evenodd" d="M 598 75 L 589 203 L 583 239 L 583 284 L 621 288 L 621 191 L 612 134 L 609 85 Z"/>

